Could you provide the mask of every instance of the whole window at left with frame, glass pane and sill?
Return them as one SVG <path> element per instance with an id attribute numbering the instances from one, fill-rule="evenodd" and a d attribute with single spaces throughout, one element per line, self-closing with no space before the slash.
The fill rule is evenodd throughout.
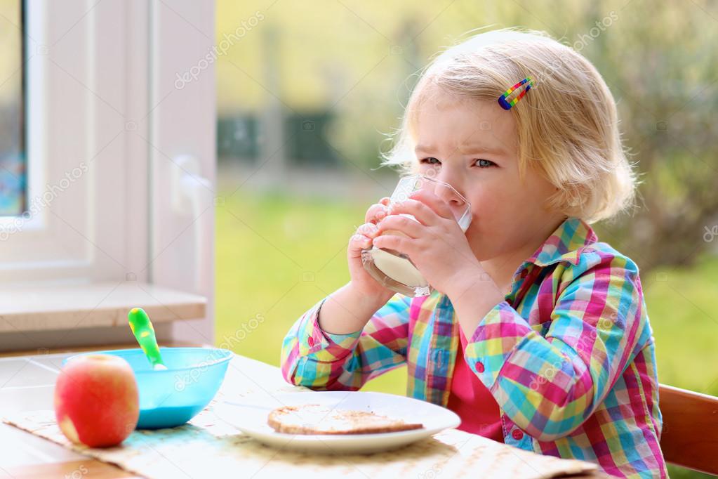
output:
<path id="1" fill-rule="evenodd" d="M 0 165 L 27 172 L 0 177 L 0 350 L 126 342 L 122 311 L 153 304 L 160 340 L 213 343 L 213 69 L 175 84 L 213 14 L 0 0 Z"/>

